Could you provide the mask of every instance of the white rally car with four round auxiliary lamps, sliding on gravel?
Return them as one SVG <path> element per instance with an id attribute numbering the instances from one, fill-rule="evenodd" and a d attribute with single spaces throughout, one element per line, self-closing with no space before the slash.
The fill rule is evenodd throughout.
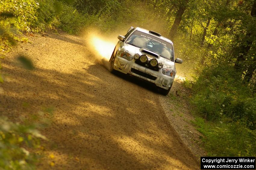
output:
<path id="1" fill-rule="evenodd" d="M 110 72 L 114 70 L 144 79 L 167 95 L 176 75 L 173 43 L 161 34 L 139 27 L 130 29 L 119 41 L 109 60 Z"/>

